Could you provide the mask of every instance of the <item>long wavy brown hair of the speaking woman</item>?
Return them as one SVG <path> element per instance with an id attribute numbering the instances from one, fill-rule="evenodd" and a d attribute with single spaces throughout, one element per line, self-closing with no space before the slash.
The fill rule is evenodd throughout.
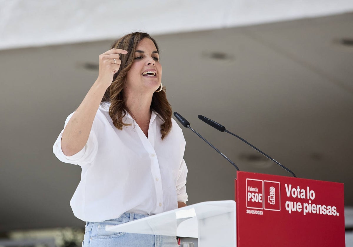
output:
<path id="1" fill-rule="evenodd" d="M 159 48 L 157 42 L 145 32 L 133 32 L 121 37 L 115 41 L 110 49 L 117 48 L 127 50 L 127 54 L 120 54 L 121 65 L 117 73 L 114 74 L 112 84 L 107 88 L 102 102 L 110 102 L 109 116 L 113 120 L 113 124 L 116 128 L 122 130 L 123 126 L 130 126 L 131 123 L 124 123 L 122 119 L 126 113 L 133 116 L 130 110 L 126 107 L 124 86 L 126 83 L 126 74 L 130 70 L 134 61 L 136 47 L 139 42 L 144 38 L 149 38 L 156 46 L 157 52 Z M 172 128 L 172 107 L 170 106 L 166 97 L 166 88 L 163 86 L 162 91 L 154 92 L 152 96 L 152 102 L 150 110 L 155 112 L 163 121 L 161 125 L 161 139 L 163 140 Z"/>

